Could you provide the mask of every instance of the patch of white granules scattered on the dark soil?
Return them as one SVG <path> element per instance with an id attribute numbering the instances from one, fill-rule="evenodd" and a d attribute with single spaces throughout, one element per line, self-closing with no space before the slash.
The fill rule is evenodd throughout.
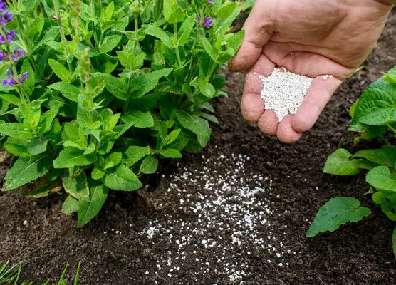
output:
<path id="1" fill-rule="evenodd" d="M 184 211 L 185 218 L 167 214 L 162 222 L 155 219 L 147 224 L 141 238 L 150 240 L 153 247 L 160 244 L 160 252 L 153 257 L 155 268 L 145 274 L 157 276 L 155 284 L 177 280 L 183 271 L 193 271 L 197 281 L 199 276 L 217 276 L 213 284 L 244 284 L 245 276 L 254 273 L 249 264 L 257 257 L 288 266 L 296 253 L 288 248 L 286 225 L 271 224 L 280 214 L 266 197 L 273 191 L 271 177 L 246 173 L 246 156 L 203 158 L 194 172 L 184 168 L 170 175 L 167 192 L 177 195 L 177 210 Z M 224 169 L 228 169 L 226 175 L 219 175 Z"/>

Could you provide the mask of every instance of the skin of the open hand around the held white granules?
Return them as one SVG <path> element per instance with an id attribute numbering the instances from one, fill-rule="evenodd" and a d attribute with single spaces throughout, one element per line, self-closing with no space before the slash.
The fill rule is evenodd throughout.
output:
<path id="1" fill-rule="evenodd" d="M 395 0 L 256 0 L 244 24 L 245 38 L 229 63 L 245 71 L 241 113 L 266 134 L 296 142 L 313 127 L 342 81 L 375 47 Z M 281 123 L 265 110 L 261 81 L 276 66 L 313 83 L 296 115 Z M 323 75 L 333 78 L 323 80 Z"/>

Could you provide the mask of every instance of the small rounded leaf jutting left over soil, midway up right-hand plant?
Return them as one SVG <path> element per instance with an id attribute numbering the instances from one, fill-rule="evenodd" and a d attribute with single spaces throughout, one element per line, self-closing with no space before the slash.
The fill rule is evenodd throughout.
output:
<path id="1" fill-rule="evenodd" d="M 323 173 L 333 175 L 357 175 L 362 171 L 364 160 L 352 160 L 352 153 L 340 148 L 330 155 L 325 163 Z"/>

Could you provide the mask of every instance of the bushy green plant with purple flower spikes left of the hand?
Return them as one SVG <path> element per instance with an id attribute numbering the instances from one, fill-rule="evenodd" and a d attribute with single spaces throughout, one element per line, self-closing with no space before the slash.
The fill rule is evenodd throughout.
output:
<path id="1" fill-rule="evenodd" d="M 3 191 L 63 188 L 63 212 L 78 212 L 82 227 L 108 189 L 137 190 L 159 158 L 207 145 L 208 121 L 218 123 L 209 100 L 226 95 L 219 69 L 244 38 L 227 33 L 236 2 L 6 3 L 0 133 L 18 158 Z"/>

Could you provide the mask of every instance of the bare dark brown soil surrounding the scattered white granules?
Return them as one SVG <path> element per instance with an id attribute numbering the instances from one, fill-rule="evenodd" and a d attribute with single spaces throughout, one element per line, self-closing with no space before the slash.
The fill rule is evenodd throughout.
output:
<path id="1" fill-rule="evenodd" d="M 370 197 L 364 195 L 368 190 L 364 174 L 343 178 L 323 175 L 321 171 L 328 155 L 338 146 L 351 152 L 359 148 L 353 147 L 354 134 L 347 131 L 348 109 L 380 76 L 380 71 L 395 66 L 395 27 L 394 11 L 377 48 L 365 63 L 369 71 L 345 81 L 313 129 L 294 145 L 284 145 L 260 133 L 256 125 L 244 122 L 239 112 L 243 76 L 227 73 L 225 90 L 230 98 L 215 102 L 220 124 L 212 126 L 209 147 L 199 155 L 184 155 L 179 163 L 163 162 L 160 174 L 148 178 L 145 190 L 111 192 L 102 212 L 87 227 L 76 229 L 76 217 L 61 214 L 61 195 L 27 199 L 21 197 L 21 191 L 0 194 L 0 261 L 35 257 L 23 274 L 33 284 L 48 278 L 54 281 L 67 262 L 71 264 L 71 276 L 78 261 L 82 262 L 80 284 L 155 284 L 155 280 L 157 284 L 240 284 L 241 280 L 232 282 L 217 273 L 214 269 L 219 264 L 213 270 L 209 267 L 209 274 L 197 273 L 199 270 L 194 269 L 199 265 L 192 259 L 187 259 L 184 267 L 170 278 L 165 269 L 155 269 L 170 245 L 162 239 L 147 239 L 141 233 L 150 221 L 167 224 L 170 215 L 172 219 L 193 219 L 194 214 L 187 208 L 180 209 L 179 194 L 167 191 L 170 182 L 182 185 L 170 178 L 172 173 L 180 173 L 184 167 L 194 172 L 205 160 L 202 155 L 241 154 L 251 157 L 245 168 L 248 176 L 271 177 L 271 191 L 259 195 L 257 200 L 273 202 L 272 207 L 281 213 L 271 217 L 273 228 L 287 226 L 282 228 L 287 247 L 297 253 L 286 254 L 284 259 L 289 265 L 280 267 L 278 262 L 269 263 L 266 251 L 251 242 L 246 247 L 254 254 L 247 254 L 246 247 L 239 253 L 239 258 L 249 265 L 249 272 L 242 279 L 244 284 L 395 284 L 396 263 L 387 263 L 395 259 L 391 244 L 395 224 L 380 211 L 374 210 L 370 219 L 347 224 L 337 232 L 314 239 L 304 235 L 318 208 L 332 197 L 357 197 L 372 207 Z M 0 167 L 0 177 L 4 177 L 8 165 Z M 226 167 L 213 167 L 208 173 L 215 169 L 219 175 L 226 175 Z M 212 192 L 195 184 L 189 185 L 188 191 L 208 197 Z M 258 229 L 256 234 L 266 237 L 266 231 Z M 226 239 L 223 245 L 228 246 Z M 210 251 L 198 254 L 204 254 L 211 264 L 217 260 Z"/>

